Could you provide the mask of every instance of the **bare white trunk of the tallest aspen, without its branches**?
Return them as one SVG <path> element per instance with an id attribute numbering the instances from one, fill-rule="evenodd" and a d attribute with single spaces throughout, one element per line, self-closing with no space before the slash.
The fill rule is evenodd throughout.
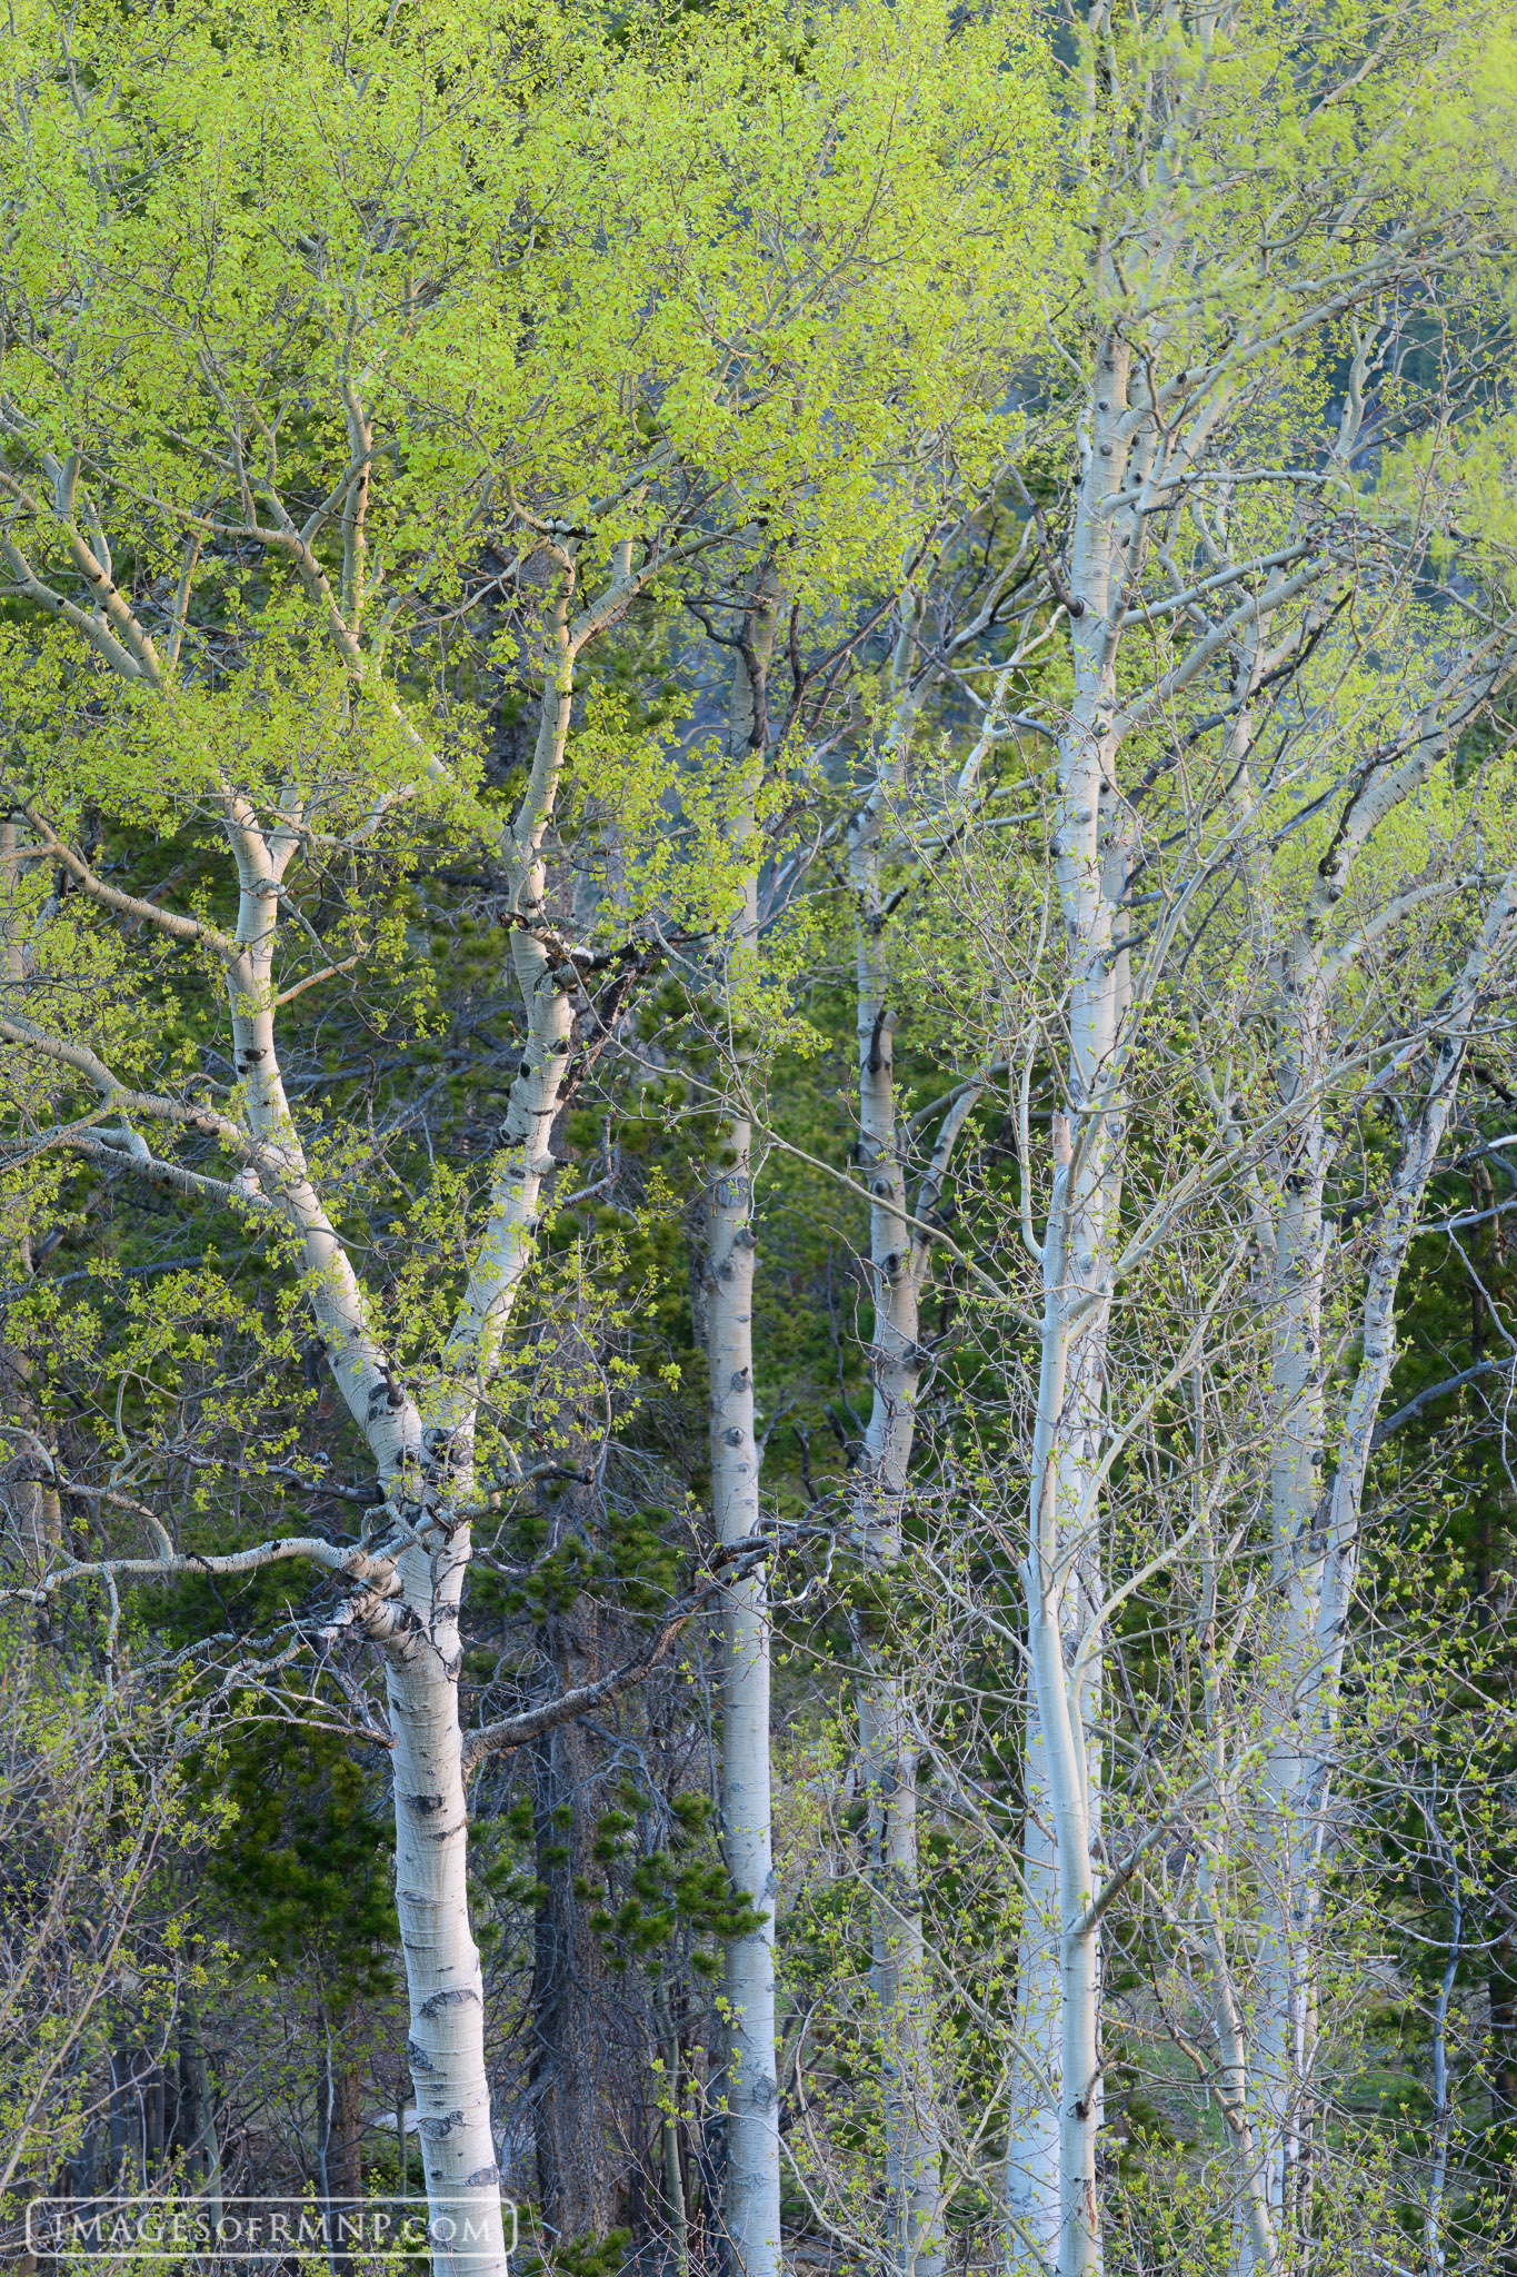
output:
<path id="1" fill-rule="evenodd" d="M 1060 2277 L 1101 2268 L 1096 2136 L 1101 2127 L 1099 1894 L 1101 1649 L 1087 1635 L 1101 1605 L 1096 1471 L 1105 1403 L 1110 1239 L 1121 1195 L 1124 1120 L 1114 1082 L 1126 959 L 1114 918 L 1126 886 L 1117 833 L 1119 540 L 1112 499 L 1135 455 L 1124 430 L 1130 348 L 1108 332 L 1096 355 L 1092 451 L 1076 492 L 1071 544 L 1073 699 L 1058 745 L 1055 879 L 1069 959 L 1069 1116 L 1055 1120 L 1055 1173 L 1044 1236 L 1044 1321 L 1028 1494 L 1030 1710 L 1023 1778 L 1033 1869 L 1019 1945 L 1019 2031 L 1008 2140 L 1008 2270 L 1035 2270 L 1028 2245 L 1058 2238 Z M 1135 565 L 1128 562 L 1128 576 Z M 1076 1678 L 1076 1669 L 1080 1676 Z M 1044 1803 L 1046 1797 L 1046 1803 Z M 1053 1867 L 1055 1888 L 1046 1876 Z M 1035 2077 L 1053 2045 L 1058 2068 Z M 1048 2088 L 1058 2102 L 1058 2197 L 1051 2193 Z M 1012 2220 L 1023 2225 L 1021 2229 Z"/>

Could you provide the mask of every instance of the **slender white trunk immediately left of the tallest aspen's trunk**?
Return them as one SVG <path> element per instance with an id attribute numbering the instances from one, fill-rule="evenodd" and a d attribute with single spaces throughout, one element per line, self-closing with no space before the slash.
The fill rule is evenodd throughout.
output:
<path id="1" fill-rule="evenodd" d="M 848 831 L 855 897 L 855 1027 L 860 1059 L 860 1177 L 869 1186 L 869 1275 L 873 1339 L 871 1407 L 853 1475 L 853 1537 L 864 1573 L 889 1578 L 901 1560 L 901 1512 L 917 1430 L 921 1380 L 919 1300 L 930 1268 L 928 1243 L 907 1223 L 905 1170 L 896 1132 L 892 1066 L 894 1011 L 885 956 L 880 842 L 889 799 L 905 788 L 912 720 L 907 679 L 912 628 L 894 660 L 896 708 L 869 797 Z M 939 2277 L 942 2149 L 932 2074 L 928 1956 L 921 1931 L 917 1860 L 917 1742 L 898 1674 L 871 1649 L 860 1624 L 857 1724 L 867 1803 L 871 1885 L 871 1988 L 882 2045 L 885 2190 L 889 2266 L 901 2277 Z"/>

